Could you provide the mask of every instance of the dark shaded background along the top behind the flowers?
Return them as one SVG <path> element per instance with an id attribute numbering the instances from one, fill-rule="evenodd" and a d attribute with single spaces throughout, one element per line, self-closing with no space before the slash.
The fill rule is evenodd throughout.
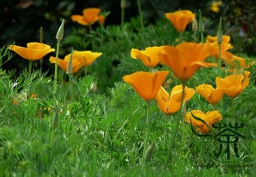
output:
<path id="1" fill-rule="evenodd" d="M 219 17 L 224 19 L 223 31 L 232 35 L 232 40 L 244 43 L 241 51 L 255 54 L 256 51 L 256 0 L 223 0 L 219 12 L 210 10 L 210 1 L 198 0 L 141 0 L 146 24 L 164 18 L 164 13 L 178 9 L 198 12 L 201 9 L 208 31 L 216 31 Z M 125 21 L 138 16 L 137 0 L 126 0 Z M 0 0 L 0 47 L 15 42 L 18 46 L 39 41 L 39 29 L 44 28 L 44 43 L 55 47 L 55 35 L 61 20 L 65 19 L 65 36 L 79 26 L 70 20 L 72 14 L 82 14 L 84 8 L 98 7 L 108 14 L 105 26 L 119 25 L 120 0 Z M 209 20 L 210 19 L 210 20 Z M 231 41 L 231 43 L 233 42 Z M 9 61 L 6 69 L 23 68 L 20 63 Z M 48 62 L 48 61 L 47 61 Z"/>

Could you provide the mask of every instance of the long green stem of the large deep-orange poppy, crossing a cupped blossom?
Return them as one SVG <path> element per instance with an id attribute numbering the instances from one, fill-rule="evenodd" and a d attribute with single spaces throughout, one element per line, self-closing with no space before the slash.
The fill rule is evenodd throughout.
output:
<path id="1" fill-rule="evenodd" d="M 168 163 L 169 163 L 169 160 L 171 159 L 171 156 L 172 156 L 172 146 L 174 145 L 175 138 L 176 138 L 176 136 L 177 136 L 177 132 L 178 132 L 178 127 L 179 127 L 180 120 L 182 120 L 181 108 L 182 108 L 182 103 L 183 103 L 183 100 L 184 100 L 184 97 L 185 97 L 185 86 L 186 86 L 186 83 L 183 82 L 183 83 L 182 83 L 182 96 L 181 96 L 181 104 L 180 104 L 180 110 L 179 110 L 179 118 L 178 118 L 178 119 L 175 119 L 177 122 L 176 122 L 175 129 L 174 129 L 174 132 L 173 132 L 173 135 L 172 135 L 171 144 L 170 144 L 170 146 L 169 146 L 169 148 L 168 148 L 166 161 L 165 161 L 164 166 L 163 166 L 163 168 L 164 168 L 165 170 L 166 170 L 166 168 L 167 168 L 167 165 L 168 165 Z"/>

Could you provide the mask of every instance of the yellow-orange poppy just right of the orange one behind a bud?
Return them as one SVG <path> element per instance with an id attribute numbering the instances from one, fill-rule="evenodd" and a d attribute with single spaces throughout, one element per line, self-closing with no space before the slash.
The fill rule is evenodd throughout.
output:
<path id="1" fill-rule="evenodd" d="M 81 66 L 89 66 L 96 60 L 102 53 L 91 51 L 74 51 L 73 58 L 79 61 Z"/>

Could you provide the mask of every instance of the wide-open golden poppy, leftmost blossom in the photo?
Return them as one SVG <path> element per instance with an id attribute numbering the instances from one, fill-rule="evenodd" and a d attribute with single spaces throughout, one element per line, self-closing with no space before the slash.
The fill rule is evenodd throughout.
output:
<path id="1" fill-rule="evenodd" d="M 39 60 L 46 54 L 55 51 L 55 49 L 51 49 L 51 46 L 44 43 L 27 43 L 27 47 L 10 45 L 9 49 L 27 60 Z"/>

